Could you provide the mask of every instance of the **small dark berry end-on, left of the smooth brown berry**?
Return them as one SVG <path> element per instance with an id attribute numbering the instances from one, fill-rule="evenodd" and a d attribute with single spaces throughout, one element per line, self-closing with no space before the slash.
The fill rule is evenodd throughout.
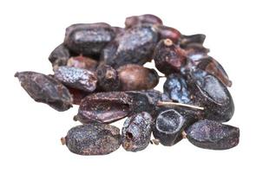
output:
<path id="1" fill-rule="evenodd" d="M 108 65 L 101 65 L 96 70 L 98 78 L 98 89 L 110 92 L 120 90 L 121 84 L 117 71 Z"/>

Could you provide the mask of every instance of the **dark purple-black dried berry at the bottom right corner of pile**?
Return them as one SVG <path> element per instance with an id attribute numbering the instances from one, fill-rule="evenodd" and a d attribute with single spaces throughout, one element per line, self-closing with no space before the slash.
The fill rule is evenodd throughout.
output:
<path id="1" fill-rule="evenodd" d="M 226 150 L 239 144 L 240 129 L 212 120 L 200 120 L 187 131 L 189 142 L 204 149 Z"/>

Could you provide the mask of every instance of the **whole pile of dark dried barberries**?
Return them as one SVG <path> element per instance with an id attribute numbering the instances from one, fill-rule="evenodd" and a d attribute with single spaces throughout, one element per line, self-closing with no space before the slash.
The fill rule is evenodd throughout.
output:
<path id="1" fill-rule="evenodd" d="M 64 42 L 49 55 L 54 74 L 15 76 L 32 99 L 66 111 L 82 125 L 62 138 L 69 151 L 104 155 L 144 150 L 149 143 L 171 146 L 182 138 L 212 150 L 239 144 L 240 130 L 221 124 L 232 118 L 231 86 L 224 68 L 208 55 L 205 35 L 182 35 L 153 15 L 129 16 L 125 28 L 104 22 L 73 24 Z M 166 76 L 143 67 L 154 60 Z M 127 118 L 120 130 L 108 125 Z M 154 139 L 151 138 L 151 133 Z"/>

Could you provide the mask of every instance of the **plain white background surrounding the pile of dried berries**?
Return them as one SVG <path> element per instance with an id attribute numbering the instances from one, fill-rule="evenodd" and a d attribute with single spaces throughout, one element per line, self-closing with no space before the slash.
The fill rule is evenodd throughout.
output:
<path id="1" fill-rule="evenodd" d="M 0 172 L 255 172 L 255 7 L 246 0 L 1 1 Z M 14 78 L 23 70 L 51 73 L 49 53 L 72 23 L 123 26 L 126 16 L 145 13 L 160 16 L 183 34 L 207 35 L 205 46 L 233 80 L 229 89 L 236 110 L 227 124 L 240 127 L 237 147 L 208 151 L 182 140 L 137 153 L 120 148 L 107 156 L 78 156 L 59 140 L 79 124 L 72 120 L 77 107 L 56 112 L 36 103 Z"/>

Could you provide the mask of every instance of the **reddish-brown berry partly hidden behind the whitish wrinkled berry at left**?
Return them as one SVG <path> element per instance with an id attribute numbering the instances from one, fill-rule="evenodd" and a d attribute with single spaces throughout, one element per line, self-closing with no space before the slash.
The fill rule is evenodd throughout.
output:
<path id="1" fill-rule="evenodd" d="M 98 66 L 98 62 L 89 57 L 79 55 L 69 58 L 67 66 L 83 68 L 89 71 L 95 71 L 96 67 Z"/>

